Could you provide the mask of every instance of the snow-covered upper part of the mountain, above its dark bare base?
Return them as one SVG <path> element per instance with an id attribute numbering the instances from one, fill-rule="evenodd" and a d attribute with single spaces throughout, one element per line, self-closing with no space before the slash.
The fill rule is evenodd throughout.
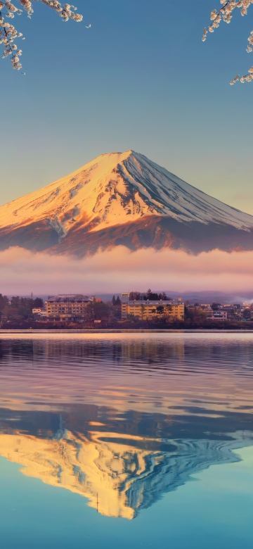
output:
<path id="1" fill-rule="evenodd" d="M 129 150 L 102 154 L 47 187 L 1 206 L 0 244 L 4 236 L 4 242 L 13 245 L 14 233 L 24 234 L 36 226 L 37 231 L 43 228 L 44 234 L 51 229 L 50 239 L 54 232 L 49 245 L 41 244 L 41 249 L 51 248 L 56 245 L 56 235 L 58 243 L 77 233 L 80 241 L 82 234 L 89 232 L 95 238 L 103 229 L 141 220 L 147 227 L 155 217 L 192 227 L 194 223 L 226 225 L 243 232 L 251 232 L 253 227 L 251 215 L 226 206 Z"/>

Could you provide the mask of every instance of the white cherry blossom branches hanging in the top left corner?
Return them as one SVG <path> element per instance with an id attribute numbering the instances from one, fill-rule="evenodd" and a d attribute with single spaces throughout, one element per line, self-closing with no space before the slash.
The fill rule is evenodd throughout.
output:
<path id="1" fill-rule="evenodd" d="M 21 15 L 22 11 L 27 11 L 30 18 L 33 13 L 33 2 L 37 0 L 0 0 L 0 44 L 4 45 L 4 58 L 10 56 L 11 63 L 14 69 L 20 70 L 20 56 L 22 50 L 18 49 L 15 40 L 17 38 L 25 39 L 22 32 L 18 32 L 14 25 L 6 21 L 7 18 L 13 19 L 15 15 Z M 82 21 L 82 15 L 75 13 L 76 9 L 70 4 L 61 4 L 58 0 L 40 0 L 42 4 L 46 4 L 48 8 L 52 8 L 63 21 L 73 19 L 74 21 Z M 90 26 L 90 25 L 89 25 Z"/>

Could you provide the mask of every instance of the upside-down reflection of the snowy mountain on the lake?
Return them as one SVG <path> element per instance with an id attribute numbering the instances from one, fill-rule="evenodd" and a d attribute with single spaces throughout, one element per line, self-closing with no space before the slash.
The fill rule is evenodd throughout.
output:
<path id="1" fill-rule="evenodd" d="M 253 443 L 246 430 L 174 438 L 171 417 L 117 417 L 116 410 L 89 405 L 63 415 L 0 413 L 0 453 L 25 467 L 23 474 L 85 496 L 103 515 L 127 519 L 201 469 L 236 461 L 232 450 Z M 242 417 L 240 427 L 248 424 L 249 416 Z"/>

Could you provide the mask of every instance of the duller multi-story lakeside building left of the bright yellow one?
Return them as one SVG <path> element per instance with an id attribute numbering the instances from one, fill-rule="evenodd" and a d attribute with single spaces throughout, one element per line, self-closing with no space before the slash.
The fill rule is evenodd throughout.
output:
<path id="1" fill-rule="evenodd" d="M 72 320 L 82 319 L 86 315 L 86 307 L 93 303 L 94 296 L 89 298 L 82 294 L 59 294 L 49 296 L 46 301 L 46 316 L 50 319 Z"/>

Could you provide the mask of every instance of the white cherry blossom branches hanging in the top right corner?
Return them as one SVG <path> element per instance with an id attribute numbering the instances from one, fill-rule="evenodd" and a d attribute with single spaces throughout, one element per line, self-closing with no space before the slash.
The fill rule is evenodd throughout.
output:
<path id="1" fill-rule="evenodd" d="M 222 8 L 217 10 L 213 10 L 211 12 L 211 25 L 209 27 L 204 29 L 203 35 L 202 35 L 202 41 L 205 42 L 207 39 L 208 32 L 214 32 L 216 28 L 219 27 L 219 24 L 221 23 L 221 20 L 223 20 L 225 23 L 231 23 L 231 19 L 233 17 L 233 12 L 236 10 L 236 8 L 240 9 L 240 14 L 247 15 L 247 10 L 250 7 L 251 4 L 253 4 L 253 0 L 220 0 L 222 4 Z M 253 50 L 253 30 L 250 32 L 249 37 L 247 39 L 249 44 L 247 45 L 246 51 L 247 53 L 251 53 Z M 237 75 L 231 80 L 231 85 L 235 84 L 235 82 L 251 82 L 253 80 L 253 67 L 249 68 L 247 75 L 243 75 L 240 77 L 240 75 Z"/>

